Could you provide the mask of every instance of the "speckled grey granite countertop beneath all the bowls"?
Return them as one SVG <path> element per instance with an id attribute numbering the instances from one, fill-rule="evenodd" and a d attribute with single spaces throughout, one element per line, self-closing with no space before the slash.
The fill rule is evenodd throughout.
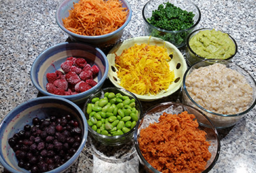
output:
<path id="1" fill-rule="evenodd" d="M 6 0 L 0 3 L 0 119 L 18 104 L 37 97 L 30 80 L 33 60 L 43 50 L 65 42 L 68 35 L 56 24 L 61 0 Z M 122 39 L 144 35 L 142 7 L 146 0 L 129 0 L 131 22 Z M 256 76 L 255 0 L 195 0 L 202 12 L 198 28 L 212 27 L 230 33 L 238 44 L 233 62 Z M 171 97 L 166 101 L 171 100 Z M 165 101 L 165 100 L 163 100 Z M 256 172 L 256 110 L 236 125 L 219 130 L 221 153 L 210 172 Z M 102 149 L 88 138 L 81 156 L 68 172 L 144 172 L 132 147 Z M 118 159 L 117 159 L 118 158 Z M 3 166 L 0 165 L 0 171 Z"/>

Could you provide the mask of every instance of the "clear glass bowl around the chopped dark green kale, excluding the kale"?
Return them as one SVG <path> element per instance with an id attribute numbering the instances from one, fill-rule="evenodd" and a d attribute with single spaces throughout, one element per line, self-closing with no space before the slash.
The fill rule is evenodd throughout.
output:
<path id="1" fill-rule="evenodd" d="M 192 27 L 188 29 L 184 29 L 181 31 L 168 31 L 150 24 L 150 22 L 148 22 L 148 18 L 152 16 L 152 12 L 154 10 L 157 10 L 159 5 L 167 2 L 172 3 L 176 7 L 181 8 L 182 10 L 186 10 L 187 12 L 193 12 L 195 14 L 193 18 L 194 25 L 192 25 Z M 196 26 L 199 24 L 201 19 L 201 12 L 200 9 L 189 0 L 150 0 L 148 1 L 148 3 L 146 3 L 146 5 L 144 5 L 142 9 L 142 17 L 144 20 L 144 30 L 146 35 L 152 35 L 152 37 L 159 37 L 163 40 L 171 42 L 172 44 L 177 46 L 177 48 L 181 48 L 186 45 L 186 37 L 188 36 L 188 34 L 196 29 Z"/>

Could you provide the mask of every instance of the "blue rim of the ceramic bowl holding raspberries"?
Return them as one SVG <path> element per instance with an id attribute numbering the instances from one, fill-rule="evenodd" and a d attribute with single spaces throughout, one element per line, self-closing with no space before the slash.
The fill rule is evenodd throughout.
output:
<path id="1" fill-rule="evenodd" d="M 104 57 L 104 60 L 106 62 L 106 67 L 105 67 L 106 70 L 105 70 L 104 74 L 102 75 L 103 80 L 98 81 L 98 84 L 96 84 L 96 86 L 92 87 L 91 89 L 89 89 L 87 91 L 84 91 L 83 93 L 77 93 L 75 95 L 54 95 L 54 94 L 49 93 L 49 92 L 45 91 L 44 89 L 42 89 L 41 86 L 39 86 L 39 84 L 37 84 L 37 82 L 36 82 L 37 80 L 35 79 L 35 69 L 36 69 L 35 63 L 37 63 L 37 61 L 39 61 L 39 59 L 42 55 L 47 54 L 48 52 L 51 52 L 51 50 L 53 50 L 54 48 L 59 47 L 59 46 L 68 45 L 68 44 L 83 44 L 83 45 L 86 45 L 86 46 L 91 46 L 90 44 L 83 43 L 83 42 L 62 42 L 62 43 L 58 43 L 58 44 L 55 44 L 54 46 L 51 46 L 50 48 L 47 48 L 43 52 L 41 52 L 41 54 L 39 54 L 35 58 L 35 60 L 33 61 L 33 64 L 32 64 L 31 70 L 30 70 L 30 78 L 32 80 L 33 85 L 39 90 L 40 93 L 43 93 L 43 95 L 50 95 L 50 96 L 61 97 L 61 98 L 65 98 L 65 99 L 79 99 L 79 97 L 83 97 L 87 93 L 93 91 L 93 89 L 97 90 L 96 86 L 102 85 L 103 82 L 104 82 L 104 79 L 106 79 L 106 77 L 108 76 L 109 64 L 108 64 L 108 59 L 107 59 L 106 55 L 99 48 L 95 48 L 94 46 L 91 46 L 92 48 L 95 48 L 95 50 L 97 52 L 99 52 L 102 55 L 102 57 Z"/>

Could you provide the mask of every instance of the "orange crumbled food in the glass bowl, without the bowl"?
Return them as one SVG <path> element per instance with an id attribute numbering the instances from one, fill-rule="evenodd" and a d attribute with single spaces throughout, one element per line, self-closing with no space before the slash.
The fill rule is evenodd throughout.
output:
<path id="1" fill-rule="evenodd" d="M 140 151 L 160 172 L 202 172 L 211 158 L 205 131 L 193 114 L 163 113 L 158 123 L 140 131 Z"/>

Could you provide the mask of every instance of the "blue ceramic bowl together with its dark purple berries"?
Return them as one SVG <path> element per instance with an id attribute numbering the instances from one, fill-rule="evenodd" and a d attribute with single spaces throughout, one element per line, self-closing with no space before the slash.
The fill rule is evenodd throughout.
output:
<path id="1" fill-rule="evenodd" d="M 85 116 L 74 102 L 58 97 L 26 101 L 1 121 L 1 165 L 15 173 L 64 172 L 79 157 L 87 133 Z"/>

